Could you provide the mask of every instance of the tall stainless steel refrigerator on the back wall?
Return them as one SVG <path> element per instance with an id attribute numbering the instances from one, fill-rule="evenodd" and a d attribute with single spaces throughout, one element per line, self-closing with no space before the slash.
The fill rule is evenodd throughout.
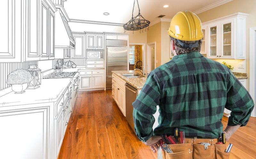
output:
<path id="1" fill-rule="evenodd" d="M 128 70 L 128 48 L 126 40 L 106 40 L 106 89 L 112 88 L 112 72 Z"/>

